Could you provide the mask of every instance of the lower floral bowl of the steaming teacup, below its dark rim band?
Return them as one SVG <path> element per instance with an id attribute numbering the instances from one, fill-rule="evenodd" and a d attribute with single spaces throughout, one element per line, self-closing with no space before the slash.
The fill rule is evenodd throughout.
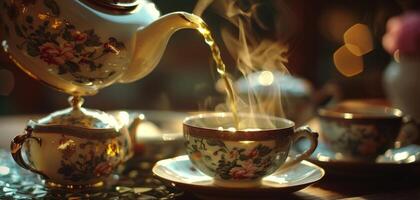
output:
<path id="1" fill-rule="evenodd" d="M 238 143 L 186 137 L 191 162 L 205 174 L 223 180 L 256 180 L 269 175 L 285 161 L 289 147 L 282 149 L 272 140 Z"/>

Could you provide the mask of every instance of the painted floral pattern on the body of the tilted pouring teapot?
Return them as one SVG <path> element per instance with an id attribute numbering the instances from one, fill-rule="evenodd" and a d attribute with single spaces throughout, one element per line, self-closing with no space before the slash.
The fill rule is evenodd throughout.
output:
<path id="1" fill-rule="evenodd" d="M 15 34 L 23 39 L 16 47 L 27 55 L 42 60 L 58 75 L 70 76 L 78 83 L 104 81 L 116 74 L 115 70 L 95 74 L 103 64 L 98 59 L 107 54 L 118 55 L 126 47 L 114 37 L 100 38 L 95 30 L 79 30 L 66 20 L 59 19 L 60 7 L 55 0 L 44 0 L 48 12 L 37 16 L 25 14 L 23 10 L 36 0 L 20 0 L 2 7 L 13 22 Z M 21 18 L 21 20 L 17 20 Z M 6 35 L 11 34 L 11 27 L 4 25 Z M 87 75 L 88 74 L 88 75 Z"/>

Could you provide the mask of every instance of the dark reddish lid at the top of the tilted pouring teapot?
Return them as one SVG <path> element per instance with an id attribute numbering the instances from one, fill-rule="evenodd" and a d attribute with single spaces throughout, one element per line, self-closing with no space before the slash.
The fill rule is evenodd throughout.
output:
<path id="1" fill-rule="evenodd" d="M 83 0 L 87 3 L 100 6 L 105 9 L 118 11 L 130 11 L 136 8 L 141 0 Z"/>

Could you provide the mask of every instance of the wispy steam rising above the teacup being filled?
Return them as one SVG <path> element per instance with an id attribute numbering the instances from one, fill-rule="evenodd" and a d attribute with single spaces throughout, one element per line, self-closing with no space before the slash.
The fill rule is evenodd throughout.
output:
<path id="1" fill-rule="evenodd" d="M 199 0 L 194 14 L 202 15 L 211 5 L 229 22 L 221 27 L 221 36 L 236 61 L 236 68 L 248 83 L 245 91 L 237 91 L 237 110 L 284 117 L 280 86 L 273 79 L 289 74 L 285 66 L 288 48 L 284 40 L 277 38 L 276 28 L 281 27 L 279 20 L 261 17 L 259 12 L 264 3 L 267 1 Z M 256 81 L 262 87 L 252 87 Z M 236 85 L 236 88 L 241 87 Z M 218 106 L 216 110 L 228 109 Z"/>

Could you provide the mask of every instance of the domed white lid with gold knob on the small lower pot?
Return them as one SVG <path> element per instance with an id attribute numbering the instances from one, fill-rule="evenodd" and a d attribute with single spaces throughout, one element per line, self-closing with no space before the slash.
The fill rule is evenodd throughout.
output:
<path id="1" fill-rule="evenodd" d="M 119 129 L 120 124 L 112 116 L 103 111 L 82 108 L 81 97 L 70 97 L 72 107 L 60 110 L 39 119 L 35 125 L 58 125 L 86 129 Z"/>

